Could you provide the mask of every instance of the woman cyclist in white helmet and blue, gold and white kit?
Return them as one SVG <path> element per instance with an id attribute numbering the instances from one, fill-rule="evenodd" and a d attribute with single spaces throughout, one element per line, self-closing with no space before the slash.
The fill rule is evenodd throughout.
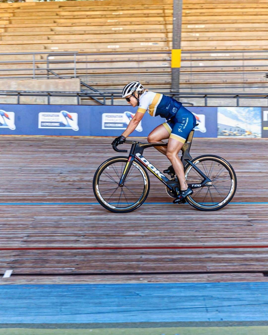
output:
<path id="1" fill-rule="evenodd" d="M 167 122 L 151 131 L 147 139 L 149 143 L 164 143 L 162 140 L 168 138 L 167 147 L 160 146 L 155 148 L 166 155 L 172 164 L 164 173 L 176 173 L 180 183 L 180 192 L 177 193 L 177 198 L 173 203 L 182 202 L 193 191 L 187 187 L 183 164 L 178 157 L 178 153 L 190 131 L 196 125 L 195 116 L 177 100 L 164 94 L 148 91 L 139 81 L 132 81 L 125 85 L 122 97 L 132 107 L 138 106 L 139 108 L 133 119 L 129 122 L 126 130 L 120 136 L 116 137 L 112 144 L 117 146 L 124 143 L 126 137 L 136 129 L 145 112 L 148 112 L 151 116 L 160 115 L 162 118 L 165 118 Z"/>

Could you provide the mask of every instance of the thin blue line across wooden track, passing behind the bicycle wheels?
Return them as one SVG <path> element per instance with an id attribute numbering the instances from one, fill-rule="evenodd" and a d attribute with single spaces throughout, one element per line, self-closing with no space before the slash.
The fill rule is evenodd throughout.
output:
<path id="1" fill-rule="evenodd" d="M 113 204 L 113 203 L 111 203 Z M 186 203 L 187 204 L 187 203 Z M 209 202 L 206 204 L 210 204 Z M 16 205 L 16 206 L 28 206 L 28 205 L 99 205 L 98 202 L 1 202 L 0 206 Z M 127 203 L 121 203 L 121 205 L 128 205 Z M 144 205 L 173 205 L 172 202 L 146 202 Z M 268 205 L 268 202 L 230 202 L 228 205 Z"/>

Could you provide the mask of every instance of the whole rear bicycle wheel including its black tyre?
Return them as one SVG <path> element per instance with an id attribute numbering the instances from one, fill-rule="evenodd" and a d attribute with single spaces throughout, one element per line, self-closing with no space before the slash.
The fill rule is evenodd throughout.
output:
<path id="1" fill-rule="evenodd" d="M 192 159 L 191 162 L 197 165 L 197 167 L 211 179 L 212 186 L 193 189 L 194 193 L 186 197 L 187 202 L 194 208 L 203 211 L 214 211 L 225 207 L 233 199 L 237 188 L 237 178 L 231 164 L 225 159 L 215 155 L 202 155 Z M 206 166 L 210 165 L 209 171 L 204 167 L 205 164 L 203 162 L 206 162 Z M 212 172 L 214 167 L 215 171 Z M 187 183 L 199 184 L 203 179 L 190 164 L 185 166 L 184 173 Z M 189 177 L 196 178 L 196 181 L 190 181 Z M 226 182 L 224 179 L 226 179 Z M 210 189 L 211 187 L 212 189 Z M 211 192 L 215 194 L 214 198 L 212 198 Z M 206 195 L 208 195 L 207 200 L 209 200 L 210 197 L 211 201 L 205 201 Z M 216 200 L 213 201 L 213 199 Z"/>

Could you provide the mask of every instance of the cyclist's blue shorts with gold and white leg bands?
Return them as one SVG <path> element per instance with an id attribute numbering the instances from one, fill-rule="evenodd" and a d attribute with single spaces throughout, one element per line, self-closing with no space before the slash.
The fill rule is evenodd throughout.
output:
<path id="1" fill-rule="evenodd" d="M 171 138 L 184 143 L 191 130 L 196 125 L 195 116 L 185 107 L 181 106 L 175 116 L 163 123 Z"/>

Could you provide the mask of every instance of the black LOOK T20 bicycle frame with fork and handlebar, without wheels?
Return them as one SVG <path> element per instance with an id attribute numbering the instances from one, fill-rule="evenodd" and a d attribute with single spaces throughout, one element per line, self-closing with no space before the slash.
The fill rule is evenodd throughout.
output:
<path id="1" fill-rule="evenodd" d="M 188 184 L 188 187 L 190 187 L 191 189 L 211 185 L 211 180 L 206 175 L 204 175 L 202 173 L 202 171 L 200 171 L 198 169 L 198 167 L 195 166 L 195 164 L 193 164 L 191 162 L 192 157 L 190 156 L 189 151 L 190 151 L 190 147 L 191 147 L 193 133 L 194 133 L 194 130 L 192 130 L 190 132 L 189 136 L 187 137 L 186 142 L 182 146 L 181 161 L 182 161 L 184 167 L 185 167 L 186 164 L 192 165 L 192 167 L 203 177 L 203 181 L 200 184 Z M 130 152 L 129 152 L 129 157 L 128 157 L 127 163 L 125 165 L 123 174 L 122 174 L 120 182 L 119 182 L 119 186 L 124 185 L 124 181 L 126 179 L 126 176 L 129 172 L 130 167 L 131 167 L 135 158 L 143 166 L 145 166 L 153 175 L 155 175 L 163 184 L 165 184 L 170 190 L 174 189 L 175 186 L 178 186 L 177 178 L 175 180 L 169 180 L 152 163 L 150 163 L 149 160 L 147 160 L 143 156 L 144 149 L 150 148 L 150 147 L 155 147 L 155 146 L 167 146 L 167 143 L 141 143 L 141 142 L 129 141 L 129 140 L 126 140 L 125 143 L 132 144 L 132 146 L 131 146 L 131 149 L 130 149 Z M 126 152 L 126 150 L 118 150 L 118 149 L 116 151 Z"/>

